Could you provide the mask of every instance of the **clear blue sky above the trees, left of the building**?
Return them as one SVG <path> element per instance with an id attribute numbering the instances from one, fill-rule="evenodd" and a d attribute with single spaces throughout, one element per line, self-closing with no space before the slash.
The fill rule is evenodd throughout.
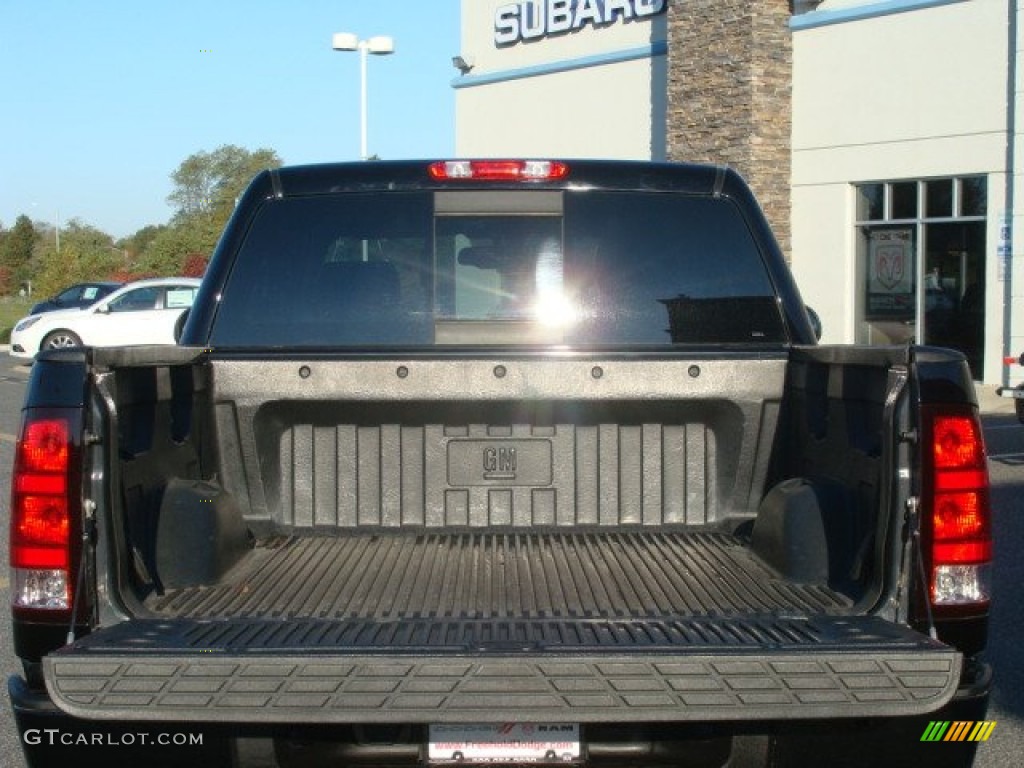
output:
<path id="1" fill-rule="evenodd" d="M 221 144 L 358 159 L 334 32 L 395 40 L 368 61 L 370 153 L 452 155 L 459 0 L 0 0 L 0 222 L 165 223 L 171 172 Z"/>

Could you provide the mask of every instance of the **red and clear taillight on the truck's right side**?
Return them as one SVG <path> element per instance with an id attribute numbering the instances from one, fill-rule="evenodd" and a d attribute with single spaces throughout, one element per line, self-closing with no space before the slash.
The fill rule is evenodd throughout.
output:
<path id="1" fill-rule="evenodd" d="M 923 501 L 936 605 L 988 601 L 992 559 L 988 466 L 981 423 L 967 407 L 923 409 Z"/>

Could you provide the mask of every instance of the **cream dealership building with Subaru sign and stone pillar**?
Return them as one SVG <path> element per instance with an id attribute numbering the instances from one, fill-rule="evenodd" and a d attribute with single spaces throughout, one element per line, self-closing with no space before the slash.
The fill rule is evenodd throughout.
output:
<path id="1" fill-rule="evenodd" d="M 916 338 L 1016 383 L 1017 6 L 463 0 L 457 154 L 728 164 L 822 341 Z"/>

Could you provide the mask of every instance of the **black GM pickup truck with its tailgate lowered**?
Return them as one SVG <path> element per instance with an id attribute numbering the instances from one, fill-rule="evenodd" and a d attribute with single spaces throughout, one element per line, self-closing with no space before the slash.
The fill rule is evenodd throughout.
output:
<path id="1" fill-rule="evenodd" d="M 32 766 L 933 766 L 984 717 L 967 365 L 818 345 L 724 168 L 262 173 L 178 346 L 39 356 L 12 492 Z"/>

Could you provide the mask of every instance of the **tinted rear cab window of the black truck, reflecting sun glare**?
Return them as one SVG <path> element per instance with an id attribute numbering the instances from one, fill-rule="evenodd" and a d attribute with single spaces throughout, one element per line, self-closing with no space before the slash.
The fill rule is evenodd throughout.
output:
<path id="1" fill-rule="evenodd" d="M 267 201 L 210 341 L 636 346 L 786 335 L 727 198 L 445 189 Z"/>

